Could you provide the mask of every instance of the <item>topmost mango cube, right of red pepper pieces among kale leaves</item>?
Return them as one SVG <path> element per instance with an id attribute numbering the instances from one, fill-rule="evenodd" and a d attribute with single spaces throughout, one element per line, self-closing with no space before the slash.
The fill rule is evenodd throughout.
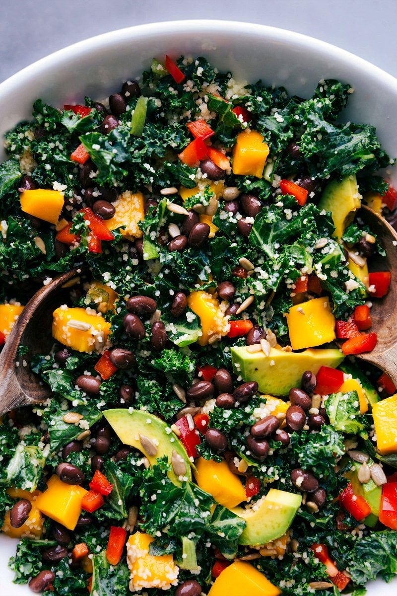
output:
<path id="1" fill-rule="evenodd" d="M 263 169 L 269 154 L 269 147 L 258 131 L 246 129 L 237 135 L 233 147 L 233 174 L 262 178 Z"/>

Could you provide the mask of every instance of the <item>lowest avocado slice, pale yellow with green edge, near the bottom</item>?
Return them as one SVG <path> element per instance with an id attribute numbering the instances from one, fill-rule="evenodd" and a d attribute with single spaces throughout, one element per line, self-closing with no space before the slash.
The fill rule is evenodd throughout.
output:
<path id="1" fill-rule="evenodd" d="M 233 513 L 246 522 L 239 544 L 252 547 L 267 544 L 283 536 L 302 503 L 302 496 L 271 488 L 254 508 L 235 507 Z"/>

